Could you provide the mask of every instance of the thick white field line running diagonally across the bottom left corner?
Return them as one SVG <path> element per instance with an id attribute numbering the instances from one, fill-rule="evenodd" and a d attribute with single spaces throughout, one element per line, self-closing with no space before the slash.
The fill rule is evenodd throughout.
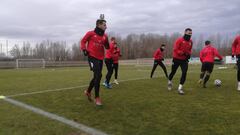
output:
<path id="1" fill-rule="evenodd" d="M 1 99 L 6 101 L 6 102 L 8 102 L 8 103 L 11 103 L 11 104 L 13 104 L 15 106 L 27 109 L 29 111 L 32 111 L 32 112 L 36 113 L 36 114 L 45 116 L 45 117 L 50 118 L 52 120 L 59 121 L 59 122 L 61 122 L 63 124 L 66 124 L 66 125 L 71 126 L 73 128 L 76 128 L 76 129 L 79 129 L 81 131 L 84 131 L 84 132 L 86 132 L 88 134 L 91 134 L 91 135 L 107 135 L 106 133 L 104 133 L 102 131 L 99 131 L 97 129 L 94 129 L 94 128 L 88 127 L 86 125 L 74 122 L 74 121 L 69 120 L 67 118 L 64 118 L 62 116 L 59 116 L 59 115 L 56 115 L 56 114 L 53 114 L 53 113 L 50 113 L 50 112 L 46 112 L 46 111 L 44 111 L 42 109 L 39 109 L 39 108 L 36 108 L 34 106 L 27 105 L 27 104 L 25 104 L 23 102 L 19 102 L 17 100 L 14 100 L 14 99 L 11 99 L 11 98 L 8 98 L 8 97 L 4 97 L 4 96 L 2 96 Z"/>

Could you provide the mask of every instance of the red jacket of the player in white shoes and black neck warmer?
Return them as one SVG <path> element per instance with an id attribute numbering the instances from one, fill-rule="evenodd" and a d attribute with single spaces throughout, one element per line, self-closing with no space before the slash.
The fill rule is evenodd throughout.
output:
<path id="1" fill-rule="evenodd" d="M 173 47 L 173 58 L 186 60 L 187 55 L 192 54 L 192 40 L 186 41 L 183 37 L 178 38 Z"/>

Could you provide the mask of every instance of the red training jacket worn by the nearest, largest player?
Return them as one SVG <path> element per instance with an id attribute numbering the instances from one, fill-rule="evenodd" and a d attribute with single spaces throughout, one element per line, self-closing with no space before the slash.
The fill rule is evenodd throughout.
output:
<path id="1" fill-rule="evenodd" d="M 108 37 L 106 34 L 99 36 L 94 31 L 89 31 L 81 40 L 81 50 L 87 50 L 89 56 L 103 60 L 104 45 L 107 43 Z"/>

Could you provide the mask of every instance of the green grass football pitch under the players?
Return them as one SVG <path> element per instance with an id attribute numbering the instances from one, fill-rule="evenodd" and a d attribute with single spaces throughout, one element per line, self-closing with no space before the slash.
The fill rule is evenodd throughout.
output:
<path id="1" fill-rule="evenodd" d="M 189 66 L 185 95 L 176 89 L 180 68 L 167 90 L 167 79 L 158 67 L 121 66 L 120 85 L 112 90 L 101 86 L 102 108 L 84 96 L 83 88 L 12 97 L 28 105 L 64 116 L 114 135 L 235 135 L 240 133 L 240 93 L 236 69 L 215 65 L 206 89 L 197 84 L 200 65 Z M 168 67 L 170 72 L 170 67 Z M 106 75 L 104 66 L 103 78 Z M 9 96 L 43 90 L 87 85 L 88 67 L 0 70 L 0 95 Z M 142 79 L 141 79 L 142 78 Z M 217 88 L 215 79 L 222 81 Z M 19 108 L 0 99 L 0 135 L 80 135 L 82 131 Z"/>

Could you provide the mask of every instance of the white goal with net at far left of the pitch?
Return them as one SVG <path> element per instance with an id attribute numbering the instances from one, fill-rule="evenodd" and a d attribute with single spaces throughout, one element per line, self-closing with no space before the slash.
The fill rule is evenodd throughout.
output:
<path id="1" fill-rule="evenodd" d="M 16 59 L 16 68 L 45 68 L 45 59 Z"/>

